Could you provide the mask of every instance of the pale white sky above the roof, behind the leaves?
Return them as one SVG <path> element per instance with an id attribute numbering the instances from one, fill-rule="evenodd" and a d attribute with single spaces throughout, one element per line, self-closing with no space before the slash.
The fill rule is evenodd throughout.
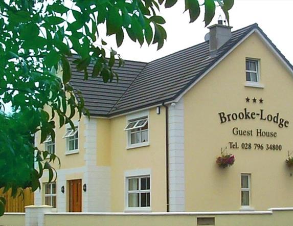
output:
<path id="1" fill-rule="evenodd" d="M 223 13 L 217 7 L 215 17 L 210 25 Z M 184 13 L 184 0 L 178 0 L 176 5 L 169 9 L 162 9 L 161 16 L 166 20 L 164 25 L 167 31 L 167 41 L 164 47 L 157 51 L 156 44 L 147 46 L 134 43 L 125 38 L 122 46 L 117 48 L 115 37 L 105 37 L 106 41 L 123 59 L 150 62 L 154 59 L 186 49 L 204 41 L 204 36 L 209 32 L 202 21 L 204 9 L 200 17 L 189 24 L 189 14 Z M 230 10 L 230 26 L 232 31 L 252 25 L 255 22 L 273 41 L 285 57 L 293 63 L 293 0 L 235 0 Z"/>

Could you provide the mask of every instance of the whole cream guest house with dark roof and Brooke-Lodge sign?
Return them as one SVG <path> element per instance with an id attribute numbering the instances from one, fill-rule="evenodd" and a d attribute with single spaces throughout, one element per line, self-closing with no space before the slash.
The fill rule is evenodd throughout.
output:
<path id="1" fill-rule="evenodd" d="M 76 118 L 75 131 L 56 129 L 55 141 L 39 145 L 60 157 L 61 168 L 56 182 L 42 178 L 35 205 L 57 212 L 293 206 L 285 163 L 293 156 L 293 66 L 257 24 L 231 32 L 219 21 L 209 29 L 205 42 L 186 50 L 126 60 L 117 83 L 83 81 L 72 64 L 91 119 Z M 225 155 L 231 164 L 234 156 L 232 166 L 218 165 Z"/>

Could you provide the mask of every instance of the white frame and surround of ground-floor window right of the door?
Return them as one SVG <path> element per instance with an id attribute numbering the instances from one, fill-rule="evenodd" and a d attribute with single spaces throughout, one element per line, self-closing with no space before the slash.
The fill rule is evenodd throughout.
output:
<path id="1" fill-rule="evenodd" d="M 151 169 L 137 169 L 129 170 L 124 172 L 125 177 L 125 212 L 151 212 Z M 150 189 L 149 190 L 140 190 L 139 192 L 145 193 L 146 191 L 150 194 L 150 206 L 149 207 L 128 207 L 128 179 L 130 178 L 143 178 L 149 177 Z M 139 183 L 141 183 L 139 181 Z M 140 188 L 140 187 L 139 187 Z"/>

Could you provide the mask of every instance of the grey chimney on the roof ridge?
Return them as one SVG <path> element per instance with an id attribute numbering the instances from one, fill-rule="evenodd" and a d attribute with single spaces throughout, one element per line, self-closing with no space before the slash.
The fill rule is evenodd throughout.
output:
<path id="1" fill-rule="evenodd" d="M 219 19 L 218 24 L 208 27 L 210 29 L 210 54 L 215 56 L 217 50 L 223 46 L 232 36 L 230 26 L 223 25 L 223 20 Z"/>

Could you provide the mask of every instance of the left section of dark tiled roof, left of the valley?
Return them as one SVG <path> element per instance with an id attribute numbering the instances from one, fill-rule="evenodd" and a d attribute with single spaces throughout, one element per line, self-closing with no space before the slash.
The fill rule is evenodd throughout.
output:
<path id="1" fill-rule="evenodd" d="M 108 115 L 112 107 L 114 107 L 146 65 L 143 62 L 129 60 L 125 60 L 123 67 L 118 67 L 118 64 L 115 64 L 114 70 L 119 75 L 119 82 L 114 79 L 112 82 L 104 83 L 101 77 L 92 78 L 89 76 L 88 80 L 84 81 L 84 73 L 78 72 L 76 66 L 72 63 L 75 59 L 77 59 L 76 55 L 69 58 L 72 65 L 72 78 L 70 83 L 74 88 L 81 91 L 85 107 L 93 116 Z M 88 72 L 90 75 L 92 71 L 93 65 L 89 65 Z"/>

